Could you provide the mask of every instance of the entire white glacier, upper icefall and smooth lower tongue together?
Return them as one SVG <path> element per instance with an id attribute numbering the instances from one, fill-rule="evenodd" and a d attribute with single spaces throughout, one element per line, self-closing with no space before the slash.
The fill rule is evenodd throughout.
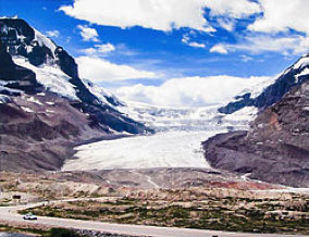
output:
<path id="1" fill-rule="evenodd" d="M 131 136 L 75 148 L 77 159 L 67 161 L 64 171 L 201 167 L 210 169 L 201 142 L 228 129 L 247 129 L 257 111 L 244 109 L 223 115 L 218 107 L 162 108 L 129 102 L 118 107 L 157 130 L 152 136 Z"/>

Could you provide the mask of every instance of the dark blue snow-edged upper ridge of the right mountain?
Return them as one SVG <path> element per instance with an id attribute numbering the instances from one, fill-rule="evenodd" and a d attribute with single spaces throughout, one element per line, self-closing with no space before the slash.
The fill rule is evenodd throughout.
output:
<path id="1" fill-rule="evenodd" d="M 271 85 L 260 85 L 263 87 L 261 93 L 246 91 L 235 98 L 235 101 L 219 109 L 219 112 L 232 114 L 245 107 L 256 107 L 259 110 L 265 109 L 288 92 L 293 87 L 301 85 L 309 79 L 309 54 L 301 57 L 295 64 L 284 71 L 275 82 L 269 80 Z"/>

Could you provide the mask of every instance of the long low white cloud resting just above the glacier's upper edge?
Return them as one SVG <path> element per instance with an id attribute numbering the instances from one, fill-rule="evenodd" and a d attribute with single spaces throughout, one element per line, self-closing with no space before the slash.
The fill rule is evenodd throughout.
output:
<path id="1" fill-rule="evenodd" d="M 162 107 L 205 107 L 231 101 L 245 88 L 268 77 L 185 77 L 169 79 L 160 86 L 141 84 L 122 87 L 115 93 L 126 101 L 138 101 Z"/>

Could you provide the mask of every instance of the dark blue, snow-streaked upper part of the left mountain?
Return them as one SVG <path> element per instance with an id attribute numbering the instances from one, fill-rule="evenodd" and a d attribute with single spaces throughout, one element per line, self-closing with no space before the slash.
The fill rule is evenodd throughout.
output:
<path id="1" fill-rule="evenodd" d="M 91 120 L 89 123 L 104 132 L 139 134 L 147 128 L 118 111 L 119 99 L 89 79 L 78 76 L 78 65 L 62 47 L 29 26 L 21 18 L 0 18 L 2 65 L 0 90 L 17 89 L 21 93 L 52 92 Z M 12 78 L 9 82 L 9 77 Z M 8 88 L 8 89 L 7 89 Z M 2 92 L 1 92 L 2 91 Z M 8 92 L 5 92 L 8 93 Z"/>

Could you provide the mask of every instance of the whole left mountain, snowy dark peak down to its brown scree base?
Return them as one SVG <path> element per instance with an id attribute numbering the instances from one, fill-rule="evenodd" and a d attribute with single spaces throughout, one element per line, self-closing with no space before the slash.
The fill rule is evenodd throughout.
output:
<path id="1" fill-rule="evenodd" d="M 0 170 L 57 170 L 76 144 L 152 133 L 21 18 L 0 18 Z"/>

